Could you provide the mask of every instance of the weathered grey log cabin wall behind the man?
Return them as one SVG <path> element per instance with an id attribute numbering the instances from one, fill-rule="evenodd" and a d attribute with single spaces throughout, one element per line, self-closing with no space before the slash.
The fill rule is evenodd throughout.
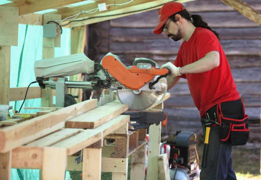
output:
<path id="1" fill-rule="evenodd" d="M 260 12 L 261 4 L 245 0 Z M 192 14 L 198 14 L 220 34 L 233 78 L 245 102 L 250 121 L 250 141 L 260 140 L 260 90 L 261 90 L 261 27 L 235 12 L 218 0 L 198 0 L 184 4 Z M 160 65 L 174 61 L 181 42 L 173 42 L 163 35 L 152 33 L 158 22 L 158 10 L 127 16 L 89 26 L 89 50 L 96 61 L 111 52 L 125 65 L 135 58 L 146 57 Z M 93 55 L 93 52 L 95 55 Z M 90 55 L 88 53 L 88 56 Z M 171 99 L 164 104 L 169 115 L 163 135 L 176 130 L 199 132 L 201 123 L 185 79 L 170 90 Z"/>

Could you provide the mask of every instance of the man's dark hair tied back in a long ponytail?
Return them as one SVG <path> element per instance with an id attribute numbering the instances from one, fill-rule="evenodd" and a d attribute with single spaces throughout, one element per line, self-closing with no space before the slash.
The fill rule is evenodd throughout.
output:
<path id="1" fill-rule="evenodd" d="M 170 16 L 169 18 L 174 21 L 174 22 L 177 22 L 175 16 L 179 14 L 180 16 L 182 16 L 184 19 L 188 20 L 188 21 L 191 21 L 192 24 L 195 26 L 195 27 L 200 27 L 200 28 L 206 28 L 210 31 L 212 31 L 212 33 L 214 33 L 214 35 L 216 35 L 217 39 L 220 41 L 220 38 L 219 38 L 219 34 L 217 32 L 215 32 L 214 30 L 212 30 L 208 24 L 206 22 L 204 22 L 202 20 L 202 17 L 200 15 L 192 15 L 192 14 L 189 14 L 187 12 L 187 10 L 182 10 L 172 16 Z"/>

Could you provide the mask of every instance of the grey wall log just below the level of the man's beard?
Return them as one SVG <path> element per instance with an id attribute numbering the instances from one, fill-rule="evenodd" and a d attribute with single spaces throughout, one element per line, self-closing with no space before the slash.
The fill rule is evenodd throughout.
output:
<path id="1" fill-rule="evenodd" d="M 140 42 L 112 42 L 110 40 L 110 52 L 113 54 L 177 55 L 181 43 L 173 43 L 170 39 L 160 39 L 157 42 L 155 40 Z M 258 56 L 261 49 L 261 40 L 223 40 L 221 45 L 226 55 Z"/>

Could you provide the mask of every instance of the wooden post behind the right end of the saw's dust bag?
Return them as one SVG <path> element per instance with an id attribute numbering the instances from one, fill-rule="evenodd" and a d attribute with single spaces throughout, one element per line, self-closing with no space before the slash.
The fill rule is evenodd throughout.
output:
<path id="1" fill-rule="evenodd" d="M 86 45 L 86 26 L 75 27 L 71 29 L 71 54 L 83 53 Z M 70 76 L 70 81 L 81 81 L 81 74 Z M 82 89 L 69 89 L 69 93 L 75 98 L 77 102 L 81 101 Z"/>

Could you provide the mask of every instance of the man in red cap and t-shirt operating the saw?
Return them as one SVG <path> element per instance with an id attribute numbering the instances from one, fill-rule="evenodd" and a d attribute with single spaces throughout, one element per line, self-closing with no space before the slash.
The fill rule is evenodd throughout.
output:
<path id="1" fill-rule="evenodd" d="M 232 145 L 246 143 L 248 116 L 244 114 L 218 34 L 199 15 L 189 14 L 182 4 L 175 2 L 160 9 L 159 24 L 153 32 L 164 32 L 174 41 L 184 40 L 174 64 L 168 62 L 162 66 L 171 71 L 167 77 L 168 89 L 180 78 L 186 78 L 201 118 L 214 122 L 200 180 L 236 179 L 232 168 Z M 205 126 L 203 124 L 203 132 Z"/>

